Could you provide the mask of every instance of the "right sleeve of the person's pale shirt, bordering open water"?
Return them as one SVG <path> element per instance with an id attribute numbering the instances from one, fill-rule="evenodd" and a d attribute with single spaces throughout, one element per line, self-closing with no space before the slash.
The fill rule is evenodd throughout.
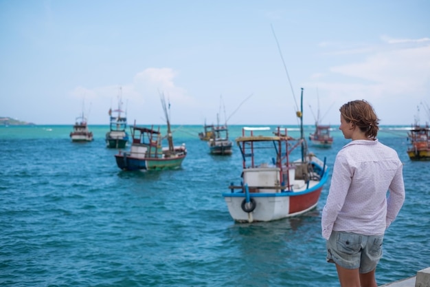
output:
<path id="1" fill-rule="evenodd" d="M 405 202 L 405 183 L 403 182 L 403 164 L 400 166 L 388 188 L 386 228 L 396 218 Z"/>

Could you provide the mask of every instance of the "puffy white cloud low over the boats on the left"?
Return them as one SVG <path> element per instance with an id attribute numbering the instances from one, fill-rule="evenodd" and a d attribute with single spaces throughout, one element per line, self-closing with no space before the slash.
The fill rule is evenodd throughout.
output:
<path id="1" fill-rule="evenodd" d="M 203 105 L 188 96 L 186 89 L 177 86 L 175 83 L 177 74 L 171 68 L 152 67 L 137 73 L 130 83 L 122 85 L 123 108 L 127 110 L 131 123 L 136 120 L 137 124 L 163 124 L 161 94 L 164 94 L 166 101 L 171 103 L 173 120 L 182 120 L 184 116 L 191 114 L 193 109 Z M 86 107 L 92 105 L 94 108 L 91 111 L 91 118 L 96 123 L 103 123 L 109 107 L 117 105 L 119 90 L 120 87 L 117 85 L 76 87 L 69 94 L 72 98 L 83 99 Z"/>

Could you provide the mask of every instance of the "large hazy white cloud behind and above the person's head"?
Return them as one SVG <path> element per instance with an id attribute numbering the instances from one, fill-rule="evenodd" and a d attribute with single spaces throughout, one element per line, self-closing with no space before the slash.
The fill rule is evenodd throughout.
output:
<path id="1" fill-rule="evenodd" d="M 417 42 L 421 44 L 379 47 L 363 61 L 331 67 L 319 78 L 321 94 L 327 103 L 339 106 L 348 100 L 370 100 L 385 124 L 410 123 L 416 105 L 428 98 L 430 89 L 430 42 L 408 43 Z"/>

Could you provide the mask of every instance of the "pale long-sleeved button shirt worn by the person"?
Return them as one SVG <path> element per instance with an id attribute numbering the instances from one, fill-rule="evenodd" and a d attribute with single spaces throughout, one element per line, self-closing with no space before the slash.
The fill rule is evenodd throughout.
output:
<path id="1" fill-rule="evenodd" d="M 403 164 L 396 151 L 378 140 L 353 140 L 336 156 L 322 236 L 328 240 L 332 231 L 383 235 L 404 201 Z"/>

